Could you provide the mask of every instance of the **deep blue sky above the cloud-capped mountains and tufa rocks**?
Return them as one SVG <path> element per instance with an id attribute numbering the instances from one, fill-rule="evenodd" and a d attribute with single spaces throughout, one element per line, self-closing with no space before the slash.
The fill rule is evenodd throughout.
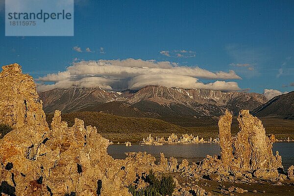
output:
<path id="1" fill-rule="evenodd" d="M 34 78 L 82 60 L 133 58 L 233 70 L 242 78 L 194 75 L 204 84 L 294 90 L 293 0 L 79 0 L 73 37 L 5 37 L 3 5 L 0 0 L 0 64 L 17 62 Z"/>

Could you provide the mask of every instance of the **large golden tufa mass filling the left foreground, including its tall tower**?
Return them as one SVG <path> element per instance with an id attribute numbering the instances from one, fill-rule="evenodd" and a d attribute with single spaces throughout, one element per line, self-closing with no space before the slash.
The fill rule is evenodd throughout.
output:
<path id="1" fill-rule="evenodd" d="M 107 154 L 109 141 L 96 127 L 85 128 L 79 119 L 68 127 L 60 111 L 55 111 L 50 130 L 32 77 L 18 64 L 2 69 L 0 123 L 13 130 L 0 140 L 1 194 L 130 196 L 127 185 L 136 171 L 154 166 L 154 161 L 142 161 L 151 155 L 114 160 Z"/>

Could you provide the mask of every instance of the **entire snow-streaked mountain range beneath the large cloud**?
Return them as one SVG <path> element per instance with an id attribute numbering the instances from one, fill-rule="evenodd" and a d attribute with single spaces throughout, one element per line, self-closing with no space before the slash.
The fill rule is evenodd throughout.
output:
<path id="1" fill-rule="evenodd" d="M 220 116 L 226 109 L 237 115 L 241 109 L 253 111 L 267 98 L 258 93 L 221 92 L 146 86 L 139 91 L 114 92 L 101 88 L 53 89 L 40 93 L 46 113 L 61 110 L 103 111 L 125 117 Z"/>

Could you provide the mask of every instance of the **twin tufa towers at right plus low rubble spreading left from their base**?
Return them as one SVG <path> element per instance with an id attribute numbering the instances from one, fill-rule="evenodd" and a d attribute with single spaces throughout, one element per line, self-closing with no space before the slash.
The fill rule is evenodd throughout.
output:
<path id="1" fill-rule="evenodd" d="M 279 152 L 272 153 L 272 143 L 266 136 L 261 121 L 242 110 L 238 117 L 240 132 L 232 138 L 230 127 L 232 114 L 228 111 L 220 117 L 219 135 L 221 156 L 209 156 L 198 165 L 192 165 L 187 172 L 203 175 L 209 179 L 237 180 L 248 182 L 253 177 L 266 180 L 284 179 L 282 158 Z M 280 171 L 280 173 L 279 173 Z"/>

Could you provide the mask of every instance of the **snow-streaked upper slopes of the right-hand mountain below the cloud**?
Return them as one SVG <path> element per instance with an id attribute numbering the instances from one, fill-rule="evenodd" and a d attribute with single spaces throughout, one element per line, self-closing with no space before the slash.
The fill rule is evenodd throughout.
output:
<path id="1" fill-rule="evenodd" d="M 167 104 L 170 102 L 213 105 L 234 105 L 245 107 L 244 109 L 253 110 L 260 103 L 265 103 L 267 99 L 264 95 L 257 93 L 214 91 L 208 89 L 181 89 L 169 88 L 164 86 L 147 86 L 139 90 L 129 100 L 130 102 L 139 102 L 142 100 L 151 100 L 158 103 Z"/>

